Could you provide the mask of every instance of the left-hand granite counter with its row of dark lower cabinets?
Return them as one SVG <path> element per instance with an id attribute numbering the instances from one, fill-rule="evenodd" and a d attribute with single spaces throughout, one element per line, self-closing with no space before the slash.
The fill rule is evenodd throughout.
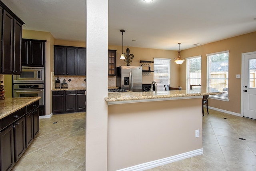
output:
<path id="1" fill-rule="evenodd" d="M 39 99 L 0 100 L 0 169 L 11 170 L 39 133 Z"/>

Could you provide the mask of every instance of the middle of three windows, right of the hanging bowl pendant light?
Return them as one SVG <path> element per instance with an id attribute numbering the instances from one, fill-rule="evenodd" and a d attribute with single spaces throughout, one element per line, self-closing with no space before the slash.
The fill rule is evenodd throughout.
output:
<path id="1" fill-rule="evenodd" d="M 201 85 L 201 56 L 186 58 L 187 74 L 186 87 L 190 89 L 190 85 Z"/>

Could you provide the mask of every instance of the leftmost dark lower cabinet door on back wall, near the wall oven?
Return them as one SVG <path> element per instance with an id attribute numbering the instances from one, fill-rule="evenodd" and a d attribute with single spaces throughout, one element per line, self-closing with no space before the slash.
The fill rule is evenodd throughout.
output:
<path id="1" fill-rule="evenodd" d="M 65 111 L 64 91 L 52 91 L 52 113 Z"/>

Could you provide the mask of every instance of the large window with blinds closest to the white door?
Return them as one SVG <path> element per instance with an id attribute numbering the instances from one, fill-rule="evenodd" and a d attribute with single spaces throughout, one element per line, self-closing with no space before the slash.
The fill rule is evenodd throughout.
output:
<path id="1" fill-rule="evenodd" d="M 210 97 L 228 100 L 228 51 L 206 56 L 207 86 L 222 92 L 222 94 L 210 95 Z"/>

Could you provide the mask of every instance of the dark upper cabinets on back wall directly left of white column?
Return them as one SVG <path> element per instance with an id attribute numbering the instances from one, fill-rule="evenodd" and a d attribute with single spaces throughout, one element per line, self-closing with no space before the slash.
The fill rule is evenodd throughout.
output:
<path id="1" fill-rule="evenodd" d="M 54 75 L 85 75 L 86 48 L 54 45 Z"/>

